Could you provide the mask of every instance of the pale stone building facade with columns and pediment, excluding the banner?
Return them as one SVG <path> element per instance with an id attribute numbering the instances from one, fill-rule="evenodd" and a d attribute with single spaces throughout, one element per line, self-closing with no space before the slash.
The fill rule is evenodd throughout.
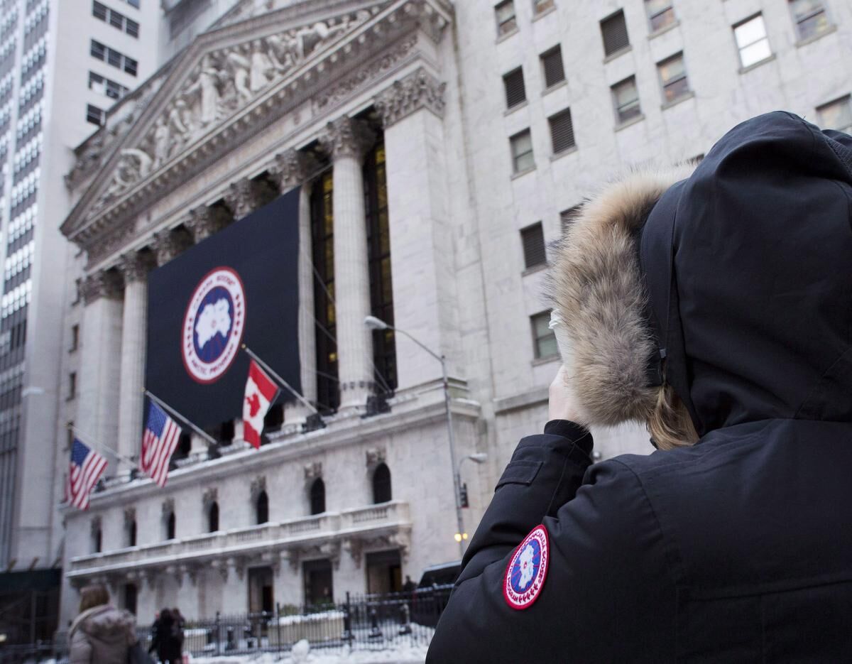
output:
<path id="1" fill-rule="evenodd" d="M 613 171 L 699 159 L 757 113 L 849 118 L 852 10 L 830 0 L 260 5 L 237 3 L 109 114 L 114 136 L 78 148 L 62 231 L 81 280 L 63 329 L 80 344 L 61 370 L 79 378 L 56 476 L 68 423 L 138 454 L 147 270 L 296 186 L 302 387 L 326 426 L 286 407 L 259 451 L 239 421 L 216 454 L 193 436 L 162 489 L 113 462 L 89 511 L 60 508 L 64 615 L 90 580 L 147 620 L 379 592 L 458 559 L 453 473 L 472 533 L 546 419 L 544 268 L 572 208 Z M 446 357 L 455 467 L 440 363 L 369 332 L 377 312 Z M 388 408 L 368 409 L 382 381 Z M 596 441 L 602 457 L 650 451 L 638 428 Z"/>

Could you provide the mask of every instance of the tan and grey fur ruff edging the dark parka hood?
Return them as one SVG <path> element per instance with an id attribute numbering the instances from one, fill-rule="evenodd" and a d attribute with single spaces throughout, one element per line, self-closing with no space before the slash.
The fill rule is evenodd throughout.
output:
<path id="1" fill-rule="evenodd" d="M 556 245 L 550 300 L 573 342 L 563 360 L 580 424 L 646 423 L 657 405 L 660 388 L 647 377 L 656 342 L 645 316 L 636 231 L 693 168 L 634 170 L 610 182 L 582 205 Z"/>

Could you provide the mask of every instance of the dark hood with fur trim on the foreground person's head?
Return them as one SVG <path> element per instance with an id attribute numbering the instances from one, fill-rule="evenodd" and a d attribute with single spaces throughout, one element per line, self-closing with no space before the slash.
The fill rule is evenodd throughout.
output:
<path id="1" fill-rule="evenodd" d="M 647 421 L 667 387 L 699 436 L 852 422 L 850 211 L 852 138 L 792 113 L 738 125 L 693 173 L 602 188 L 550 274 L 583 424 Z"/>

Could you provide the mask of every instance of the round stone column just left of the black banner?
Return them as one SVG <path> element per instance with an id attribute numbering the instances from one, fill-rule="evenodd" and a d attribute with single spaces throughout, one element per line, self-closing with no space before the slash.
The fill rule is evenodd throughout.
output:
<path id="1" fill-rule="evenodd" d="M 139 456 L 142 439 L 142 390 L 145 387 L 148 269 L 151 261 L 134 252 L 121 257 L 124 276 L 124 321 L 121 335 L 121 382 L 118 384 L 118 452 Z M 124 471 L 130 468 L 119 465 Z"/>

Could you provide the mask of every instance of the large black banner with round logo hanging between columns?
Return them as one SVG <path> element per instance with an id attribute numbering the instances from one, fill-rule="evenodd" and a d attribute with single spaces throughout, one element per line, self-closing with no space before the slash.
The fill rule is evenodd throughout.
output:
<path id="1" fill-rule="evenodd" d="M 148 276 L 146 387 L 194 424 L 242 417 L 242 344 L 302 390 L 298 212 L 295 189 Z"/>

